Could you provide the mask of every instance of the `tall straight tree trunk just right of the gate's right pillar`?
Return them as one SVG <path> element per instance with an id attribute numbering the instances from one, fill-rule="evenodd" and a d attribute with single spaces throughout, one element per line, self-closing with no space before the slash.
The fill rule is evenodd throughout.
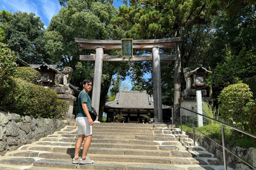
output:
<path id="1" fill-rule="evenodd" d="M 176 44 L 175 53 L 177 55 L 177 60 L 175 61 L 175 69 L 174 69 L 174 104 L 180 105 L 179 98 L 181 97 L 181 56 L 180 56 L 179 44 Z M 174 107 L 173 114 L 179 117 L 180 116 L 179 110 L 180 109 L 178 107 Z"/>

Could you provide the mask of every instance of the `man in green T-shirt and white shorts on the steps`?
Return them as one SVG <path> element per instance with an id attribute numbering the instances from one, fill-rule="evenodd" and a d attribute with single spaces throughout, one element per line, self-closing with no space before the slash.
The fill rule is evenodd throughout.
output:
<path id="1" fill-rule="evenodd" d="M 93 121 L 89 114 L 91 111 L 91 99 L 88 95 L 92 89 L 92 81 L 85 79 L 83 81 L 83 90 L 78 95 L 78 114 L 76 116 L 76 125 L 78 128 L 78 139 L 75 146 L 75 156 L 72 163 L 91 164 L 93 160 L 87 157 L 87 151 L 92 140 Z M 85 141 L 84 141 L 85 138 Z M 84 141 L 82 157 L 79 157 L 79 150 Z"/>

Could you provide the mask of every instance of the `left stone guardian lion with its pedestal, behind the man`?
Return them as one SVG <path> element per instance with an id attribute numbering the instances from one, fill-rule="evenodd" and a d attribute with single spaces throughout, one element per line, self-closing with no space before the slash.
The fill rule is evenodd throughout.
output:
<path id="1" fill-rule="evenodd" d="M 69 84 L 69 81 L 72 76 L 73 69 L 71 67 L 65 67 L 61 74 L 56 75 L 55 83 L 59 84 L 59 87 L 52 87 L 54 91 L 59 95 L 59 99 L 65 100 L 69 103 L 69 110 L 66 114 L 66 119 L 74 119 L 75 115 L 73 115 L 73 106 L 74 101 L 76 101 L 76 97 L 74 96 L 74 90 L 78 92 L 77 88 L 73 85 Z"/>

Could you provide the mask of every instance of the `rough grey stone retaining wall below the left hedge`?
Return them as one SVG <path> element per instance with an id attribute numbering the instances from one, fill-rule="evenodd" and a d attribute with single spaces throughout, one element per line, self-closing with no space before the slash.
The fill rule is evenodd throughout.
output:
<path id="1" fill-rule="evenodd" d="M 67 120 L 35 119 L 0 111 L 0 155 L 38 141 L 69 124 Z"/>

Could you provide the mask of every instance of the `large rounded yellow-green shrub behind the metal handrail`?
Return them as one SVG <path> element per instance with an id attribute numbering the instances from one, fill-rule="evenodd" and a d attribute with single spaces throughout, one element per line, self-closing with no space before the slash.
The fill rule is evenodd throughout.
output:
<path id="1" fill-rule="evenodd" d="M 248 131 L 250 109 L 255 105 L 252 97 L 252 92 L 246 84 L 238 83 L 225 87 L 219 96 L 219 112 L 224 121 Z"/>

